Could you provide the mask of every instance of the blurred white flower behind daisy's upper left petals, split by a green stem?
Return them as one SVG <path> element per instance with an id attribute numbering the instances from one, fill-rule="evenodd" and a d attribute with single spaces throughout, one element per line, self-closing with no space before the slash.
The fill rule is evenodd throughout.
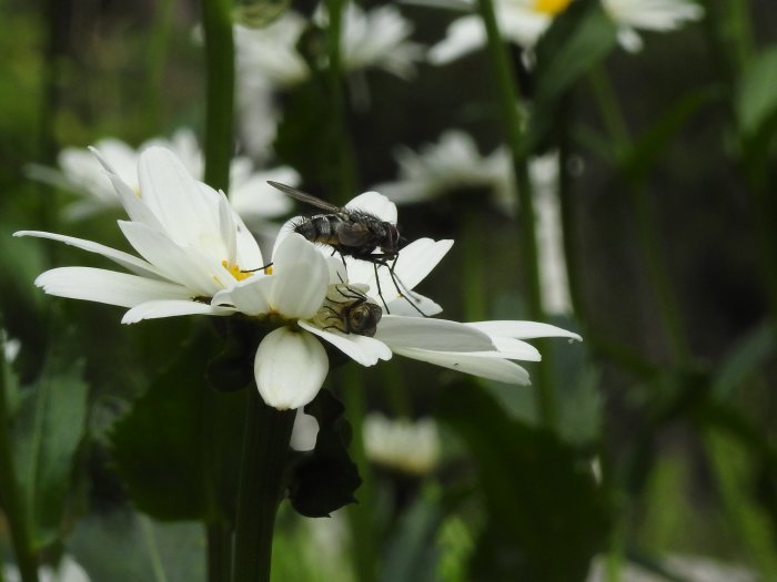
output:
<path id="1" fill-rule="evenodd" d="M 149 140 L 137 150 L 127 143 L 107 137 L 95 144 L 100 155 L 132 191 L 139 192 L 138 161 L 140 154 L 152 146 L 167 147 L 175 153 L 183 165 L 196 178 L 202 178 L 204 161 L 196 137 L 191 130 L 179 130 L 171 140 L 157 137 Z M 80 219 L 92 214 L 117 210 L 121 201 L 117 196 L 111 180 L 87 147 L 65 147 L 58 156 L 59 170 L 32 165 L 30 177 L 51 183 L 81 195 L 81 200 L 65 207 L 65 217 Z M 268 180 L 299 183 L 299 175 L 290 167 L 254 171 L 251 160 L 238 156 L 230 166 L 229 197 L 238 213 L 252 225 L 265 218 L 287 213 L 291 203 L 280 192 L 266 184 Z"/>

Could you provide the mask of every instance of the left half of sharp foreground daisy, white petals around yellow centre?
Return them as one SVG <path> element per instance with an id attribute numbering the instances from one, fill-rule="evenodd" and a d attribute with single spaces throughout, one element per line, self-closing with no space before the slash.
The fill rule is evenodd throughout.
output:
<path id="1" fill-rule="evenodd" d="M 163 147 L 140 154 L 134 190 L 95 155 L 130 217 L 119 221 L 119 227 L 140 257 L 54 233 L 14 233 L 97 253 L 130 272 L 59 267 L 40 275 L 36 285 L 60 297 L 129 307 L 122 319 L 127 324 L 173 315 L 229 315 L 231 310 L 210 305 L 210 298 L 264 262 L 226 196 L 194 180 Z"/>

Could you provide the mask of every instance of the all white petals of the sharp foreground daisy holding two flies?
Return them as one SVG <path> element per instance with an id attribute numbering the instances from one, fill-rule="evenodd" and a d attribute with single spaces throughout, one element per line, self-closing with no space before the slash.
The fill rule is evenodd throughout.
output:
<path id="1" fill-rule="evenodd" d="M 101 160 L 130 221 L 119 221 L 140 256 L 53 233 L 23 231 L 17 236 L 50 238 L 100 254 L 129 273 L 92 267 L 59 267 L 36 284 L 46 293 L 128 307 L 122 321 L 179 315 L 243 314 L 275 324 L 260 343 L 255 379 L 265 402 L 279 409 L 310 402 L 329 371 L 321 340 L 355 361 L 372 366 L 393 354 L 511 384 L 528 384 L 518 360 L 538 360 L 523 341 L 576 334 L 532 321 L 462 324 L 422 317 L 440 307 L 413 292 L 442 259 L 452 241 L 417 239 L 402 249 L 392 273 L 386 267 L 331 256 L 290 228 L 282 231 L 272 268 L 226 196 L 196 181 L 163 147 L 145 150 L 139 162 L 140 190 L 133 191 Z M 396 206 L 370 192 L 349 207 L 396 223 Z M 403 292 L 395 282 L 402 282 Z M 376 304 L 385 302 L 374 337 L 323 325 L 317 317 L 333 285 L 359 286 Z M 377 292 L 382 289 L 382 292 Z M 408 298 L 408 294 L 412 299 Z"/>

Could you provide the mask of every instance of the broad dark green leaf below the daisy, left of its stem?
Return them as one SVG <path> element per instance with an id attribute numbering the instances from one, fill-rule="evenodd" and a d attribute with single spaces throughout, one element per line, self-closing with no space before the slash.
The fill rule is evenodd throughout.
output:
<path id="1" fill-rule="evenodd" d="M 234 515 L 246 392 L 209 386 L 211 353 L 204 335 L 184 345 L 110 437 L 130 498 L 160 520 Z"/>

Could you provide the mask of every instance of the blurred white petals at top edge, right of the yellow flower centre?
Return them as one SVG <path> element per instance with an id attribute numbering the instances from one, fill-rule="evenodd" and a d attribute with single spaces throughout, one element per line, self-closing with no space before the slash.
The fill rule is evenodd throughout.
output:
<path id="1" fill-rule="evenodd" d="M 618 27 L 618 42 L 629 52 L 643 48 L 637 30 L 667 32 L 704 17 L 704 8 L 694 0 L 602 0 L 602 6 Z"/>

